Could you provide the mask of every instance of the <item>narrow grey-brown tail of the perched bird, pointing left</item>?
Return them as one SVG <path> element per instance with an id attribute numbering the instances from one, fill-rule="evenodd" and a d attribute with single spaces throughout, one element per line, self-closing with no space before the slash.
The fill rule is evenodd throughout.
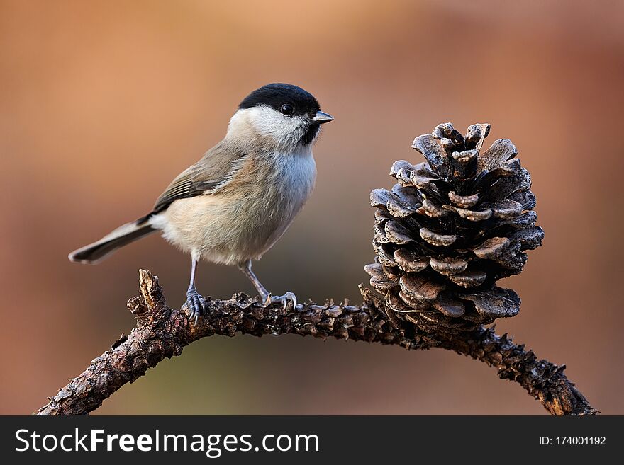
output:
<path id="1" fill-rule="evenodd" d="M 152 234 L 156 229 L 152 228 L 147 223 L 147 218 L 142 217 L 134 222 L 122 224 L 115 231 L 107 234 L 97 242 L 90 243 L 88 246 L 79 248 L 69 254 L 69 260 L 78 263 L 95 263 L 104 260 L 107 256 L 111 255 L 118 248 L 126 246 L 130 242 L 134 242 L 137 239 L 141 239 L 143 236 Z"/>

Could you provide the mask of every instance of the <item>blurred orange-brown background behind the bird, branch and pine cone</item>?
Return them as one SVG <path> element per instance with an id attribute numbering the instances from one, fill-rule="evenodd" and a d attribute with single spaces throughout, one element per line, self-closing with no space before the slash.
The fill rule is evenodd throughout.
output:
<path id="1" fill-rule="evenodd" d="M 252 89 L 315 94 L 335 122 L 316 192 L 255 270 L 273 292 L 361 302 L 369 191 L 413 137 L 492 124 L 533 174 L 544 245 L 504 282 L 498 323 L 624 413 L 619 293 L 624 124 L 621 1 L 0 1 L 0 413 L 45 404 L 133 327 L 138 268 L 184 302 L 189 258 L 157 236 L 96 267 L 67 253 L 147 212 L 225 133 Z M 615 132 L 612 132 L 615 131 Z M 618 206 L 620 205 L 620 206 Z M 213 297 L 251 293 L 199 268 Z M 96 413 L 545 414 L 494 369 L 443 350 L 295 336 L 204 338 Z"/>

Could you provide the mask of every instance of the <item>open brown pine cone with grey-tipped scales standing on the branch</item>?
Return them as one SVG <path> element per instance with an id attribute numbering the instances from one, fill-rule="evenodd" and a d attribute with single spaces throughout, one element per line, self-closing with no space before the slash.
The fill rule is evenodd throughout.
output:
<path id="1" fill-rule="evenodd" d="M 376 262 L 365 270 L 396 316 L 428 333 L 457 333 L 514 316 L 520 298 L 496 280 L 520 273 L 540 246 L 531 178 L 508 139 L 480 153 L 490 130 L 450 123 L 416 137 L 427 162 L 396 161 L 399 181 L 371 193 Z"/>

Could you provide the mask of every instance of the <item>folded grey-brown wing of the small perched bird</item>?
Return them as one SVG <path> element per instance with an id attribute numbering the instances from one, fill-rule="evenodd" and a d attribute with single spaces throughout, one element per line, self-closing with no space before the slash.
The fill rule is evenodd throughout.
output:
<path id="1" fill-rule="evenodd" d="M 240 166 L 246 152 L 218 144 L 208 150 L 200 161 L 182 171 L 154 205 L 153 213 L 162 212 L 175 200 L 211 193 L 227 183 Z"/>

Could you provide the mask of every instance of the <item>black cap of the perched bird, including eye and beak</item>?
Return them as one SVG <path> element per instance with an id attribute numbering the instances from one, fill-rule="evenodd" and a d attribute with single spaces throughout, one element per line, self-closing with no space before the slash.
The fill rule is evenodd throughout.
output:
<path id="1" fill-rule="evenodd" d="M 307 116 L 317 124 L 333 120 L 333 117 L 321 111 L 321 105 L 318 105 L 311 93 L 292 84 L 274 83 L 262 86 L 245 97 L 238 108 L 243 110 L 261 105 L 273 108 L 285 116 Z"/>

